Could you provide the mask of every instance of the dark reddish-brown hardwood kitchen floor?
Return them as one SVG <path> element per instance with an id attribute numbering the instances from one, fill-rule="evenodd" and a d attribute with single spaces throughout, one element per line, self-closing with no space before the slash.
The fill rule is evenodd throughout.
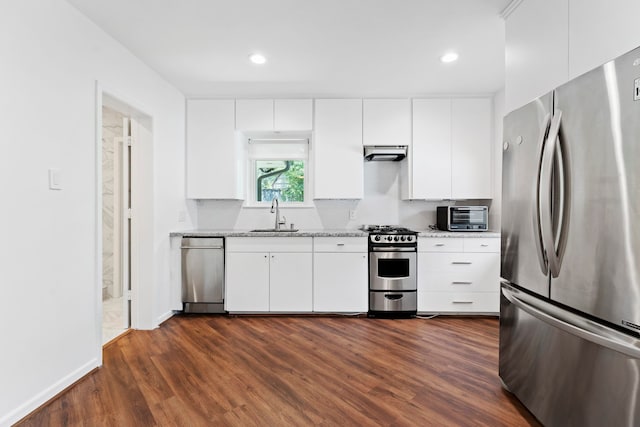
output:
<path id="1" fill-rule="evenodd" d="M 529 426 L 496 318 L 175 316 L 20 426 Z"/>

